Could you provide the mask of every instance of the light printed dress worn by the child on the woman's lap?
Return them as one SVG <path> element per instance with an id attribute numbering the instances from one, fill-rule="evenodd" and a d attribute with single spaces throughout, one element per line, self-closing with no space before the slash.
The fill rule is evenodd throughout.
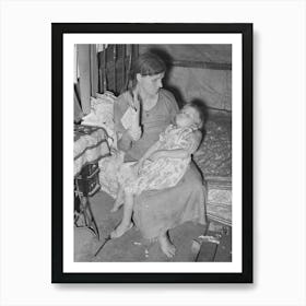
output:
<path id="1" fill-rule="evenodd" d="M 133 172 L 133 164 L 123 164 L 118 179 L 127 192 L 140 195 L 144 190 L 158 190 L 177 185 L 186 173 L 191 154 L 198 149 L 200 141 L 195 136 L 193 129 L 170 125 L 160 134 L 158 142 L 158 150 L 184 149 L 188 152 L 188 156 L 162 157 L 153 162 L 145 160 L 139 175 Z"/>

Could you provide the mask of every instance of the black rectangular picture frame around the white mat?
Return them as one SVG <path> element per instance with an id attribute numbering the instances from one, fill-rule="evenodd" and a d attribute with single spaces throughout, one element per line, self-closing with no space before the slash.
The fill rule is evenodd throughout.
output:
<path id="1" fill-rule="evenodd" d="M 240 273 L 64 273 L 63 272 L 63 35 L 91 33 L 242 34 L 242 272 Z M 252 283 L 252 24 L 51 24 L 51 282 L 52 283 Z M 128 263 L 127 263 L 128 264 Z"/>

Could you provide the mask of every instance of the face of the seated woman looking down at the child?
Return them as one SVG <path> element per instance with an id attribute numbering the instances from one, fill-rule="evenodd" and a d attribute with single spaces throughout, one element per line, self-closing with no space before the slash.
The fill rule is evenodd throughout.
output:
<path id="1" fill-rule="evenodd" d="M 158 73 L 155 75 L 141 75 L 137 74 L 138 86 L 140 92 L 144 95 L 155 96 L 160 89 L 163 87 L 162 80 L 165 73 Z"/>

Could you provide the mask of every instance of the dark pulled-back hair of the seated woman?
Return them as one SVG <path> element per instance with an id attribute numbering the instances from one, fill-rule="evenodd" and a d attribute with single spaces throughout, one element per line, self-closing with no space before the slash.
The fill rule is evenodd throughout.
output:
<path id="1" fill-rule="evenodd" d="M 155 75 L 166 71 L 166 64 L 164 61 L 152 52 L 145 52 L 139 56 L 133 64 L 131 76 L 136 79 L 136 75 L 140 73 L 142 76 Z"/>

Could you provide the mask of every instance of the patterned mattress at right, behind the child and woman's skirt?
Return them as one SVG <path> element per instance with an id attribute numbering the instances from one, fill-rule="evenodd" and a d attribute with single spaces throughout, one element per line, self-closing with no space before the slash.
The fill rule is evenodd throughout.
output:
<path id="1" fill-rule="evenodd" d="M 232 225 L 232 116 L 212 114 L 193 161 L 208 188 L 208 217 Z"/>

